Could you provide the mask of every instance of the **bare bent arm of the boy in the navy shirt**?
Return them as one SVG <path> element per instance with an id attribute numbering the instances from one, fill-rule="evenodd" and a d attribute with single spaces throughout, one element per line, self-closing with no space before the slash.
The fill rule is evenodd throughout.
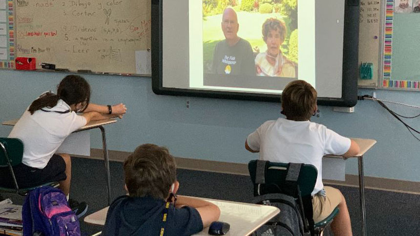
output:
<path id="1" fill-rule="evenodd" d="M 185 205 L 197 209 L 203 221 L 203 228 L 210 226 L 210 223 L 219 219 L 220 209 L 213 203 L 195 197 L 179 196 L 176 205 Z"/>

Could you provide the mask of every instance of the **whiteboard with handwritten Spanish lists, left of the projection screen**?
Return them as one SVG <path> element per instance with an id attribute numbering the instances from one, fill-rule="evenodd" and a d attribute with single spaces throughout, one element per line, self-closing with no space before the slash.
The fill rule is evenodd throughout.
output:
<path id="1" fill-rule="evenodd" d="M 151 74 L 150 0 L 15 0 L 16 56 L 69 71 Z"/>

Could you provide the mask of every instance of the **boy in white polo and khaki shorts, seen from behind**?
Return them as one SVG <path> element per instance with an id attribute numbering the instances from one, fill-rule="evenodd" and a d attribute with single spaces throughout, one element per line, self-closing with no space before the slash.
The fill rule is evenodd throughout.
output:
<path id="1" fill-rule="evenodd" d="M 312 204 L 315 223 L 325 219 L 338 206 L 339 213 L 331 224 L 334 235 L 352 235 L 346 201 L 338 189 L 322 184 L 322 157 L 324 155 L 357 155 L 359 146 L 324 125 L 310 121 L 317 110 L 316 90 L 303 80 L 290 82 L 281 95 L 285 118 L 269 120 L 250 134 L 245 148 L 259 152 L 260 159 L 273 162 L 312 164 L 318 171 Z"/>

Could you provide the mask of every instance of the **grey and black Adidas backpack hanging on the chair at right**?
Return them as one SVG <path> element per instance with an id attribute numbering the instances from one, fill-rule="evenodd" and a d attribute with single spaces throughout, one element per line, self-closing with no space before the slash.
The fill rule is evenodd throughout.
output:
<path id="1" fill-rule="evenodd" d="M 314 222 L 308 220 L 313 215 L 312 200 L 310 197 L 301 197 L 297 185 L 302 164 L 289 164 L 288 177 L 284 183 L 287 186 L 280 188 L 277 184 L 265 182 L 265 171 L 269 162 L 257 162 L 253 203 L 277 207 L 280 213 L 257 229 L 252 236 L 314 235 Z"/>

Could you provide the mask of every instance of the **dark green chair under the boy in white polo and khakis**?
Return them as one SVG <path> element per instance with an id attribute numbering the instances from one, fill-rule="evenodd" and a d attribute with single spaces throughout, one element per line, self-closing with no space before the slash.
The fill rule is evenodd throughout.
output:
<path id="1" fill-rule="evenodd" d="M 286 181 L 290 165 L 301 165 L 300 172 L 297 173 L 297 190 L 294 191 L 290 188 L 290 182 Z M 269 194 L 269 193 L 283 193 L 294 197 L 301 207 L 301 215 L 304 218 L 304 225 L 309 231 L 313 231 L 315 236 L 322 236 L 325 229 L 331 224 L 334 217 L 338 214 L 338 207 L 326 217 L 324 220 L 314 224 L 313 229 L 310 229 L 309 220 L 305 215 L 312 217 L 312 200 L 311 193 L 314 190 L 317 170 L 315 166 L 309 164 L 295 164 L 295 163 L 279 163 L 262 160 L 251 160 L 248 163 L 248 169 L 252 183 L 254 184 L 254 196 Z M 265 180 L 264 184 L 258 183 L 257 171 L 263 172 Z M 295 173 L 294 173 L 295 174 Z M 256 180 L 257 179 L 257 180 Z M 275 186 L 275 187 L 273 187 Z M 260 191 L 257 193 L 257 191 Z M 303 200 L 302 200 L 303 199 Z M 310 208 L 310 209 L 309 209 Z M 310 211 L 309 211 L 310 210 Z M 280 209 L 281 214 L 281 209 Z"/>

